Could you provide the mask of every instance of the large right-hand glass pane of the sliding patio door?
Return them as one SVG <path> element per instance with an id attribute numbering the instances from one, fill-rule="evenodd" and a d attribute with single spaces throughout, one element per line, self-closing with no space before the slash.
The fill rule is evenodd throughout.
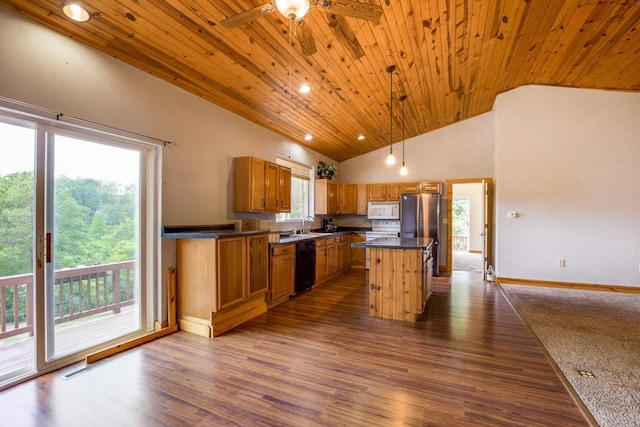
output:
<path id="1" fill-rule="evenodd" d="M 51 360 L 140 330 L 141 152 L 61 134 L 47 141 Z"/>

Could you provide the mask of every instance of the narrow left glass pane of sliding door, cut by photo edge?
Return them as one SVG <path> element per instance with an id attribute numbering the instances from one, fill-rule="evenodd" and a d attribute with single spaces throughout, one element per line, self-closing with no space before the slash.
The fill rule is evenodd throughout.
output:
<path id="1" fill-rule="evenodd" d="M 0 384 L 34 372 L 35 130 L 0 118 Z"/>

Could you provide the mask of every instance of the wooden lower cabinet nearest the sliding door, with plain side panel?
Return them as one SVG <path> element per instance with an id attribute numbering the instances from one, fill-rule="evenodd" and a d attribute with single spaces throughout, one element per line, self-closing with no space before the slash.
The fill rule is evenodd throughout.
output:
<path id="1" fill-rule="evenodd" d="M 176 242 L 180 329 L 217 336 L 267 310 L 267 234 Z"/>

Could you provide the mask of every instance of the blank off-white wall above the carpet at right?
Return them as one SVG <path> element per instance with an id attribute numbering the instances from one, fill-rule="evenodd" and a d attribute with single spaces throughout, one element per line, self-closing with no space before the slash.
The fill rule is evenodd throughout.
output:
<path id="1" fill-rule="evenodd" d="M 640 286 L 640 94 L 528 86 L 494 118 L 498 276 Z"/>

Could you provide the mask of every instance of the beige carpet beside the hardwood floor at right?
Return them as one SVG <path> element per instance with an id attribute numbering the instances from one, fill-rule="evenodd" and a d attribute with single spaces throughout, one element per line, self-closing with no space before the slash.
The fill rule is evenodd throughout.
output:
<path id="1" fill-rule="evenodd" d="M 597 422 L 640 426 L 640 295 L 501 286 Z"/>

